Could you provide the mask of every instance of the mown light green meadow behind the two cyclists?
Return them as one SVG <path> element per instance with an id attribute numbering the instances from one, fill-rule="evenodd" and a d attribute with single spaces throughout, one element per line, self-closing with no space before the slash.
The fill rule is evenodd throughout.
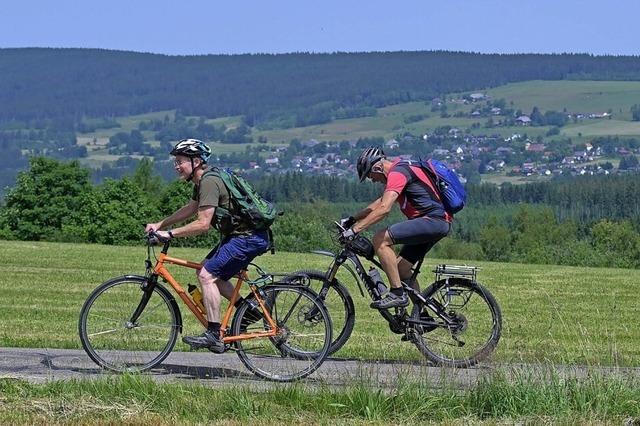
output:
<path id="1" fill-rule="evenodd" d="M 89 293 L 108 278 L 144 273 L 145 249 L 100 245 L 0 241 L 0 345 L 80 348 L 77 321 Z M 206 250 L 174 249 L 199 260 Z M 313 254 L 264 255 L 270 271 L 323 270 L 329 259 Z M 429 259 L 438 263 L 460 260 Z M 503 336 L 494 362 L 552 362 L 635 366 L 640 362 L 637 283 L 640 271 L 549 265 L 479 263 L 483 282 L 503 313 Z M 192 270 L 174 267 L 183 283 L 196 282 Z M 400 342 L 386 322 L 368 307 L 353 282 L 344 280 L 356 302 L 356 326 L 339 357 L 421 360 L 411 344 Z M 185 333 L 201 332 L 182 308 Z M 188 314 L 188 315 L 187 315 Z M 176 350 L 187 348 L 179 343 Z"/>

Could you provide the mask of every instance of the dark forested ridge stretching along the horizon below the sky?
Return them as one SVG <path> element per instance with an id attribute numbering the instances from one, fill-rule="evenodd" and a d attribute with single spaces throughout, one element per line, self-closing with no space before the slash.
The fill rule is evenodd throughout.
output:
<path id="1" fill-rule="evenodd" d="M 0 49 L 0 122 L 77 122 L 83 116 L 180 109 L 208 117 L 244 115 L 251 125 L 304 125 L 508 82 L 587 78 L 640 80 L 640 57 L 442 51 L 164 56 Z M 301 111 L 306 122 L 296 122 Z"/>

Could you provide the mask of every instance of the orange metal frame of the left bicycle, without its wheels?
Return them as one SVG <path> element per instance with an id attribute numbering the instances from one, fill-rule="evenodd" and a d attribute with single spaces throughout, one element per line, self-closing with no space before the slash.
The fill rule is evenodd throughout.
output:
<path id="1" fill-rule="evenodd" d="M 169 250 L 169 245 L 170 244 L 168 241 L 164 243 L 160 256 L 158 257 L 158 260 L 156 261 L 156 264 L 155 266 L 152 267 L 152 269 L 151 269 L 150 262 L 148 261 L 149 263 L 147 264 L 147 268 L 152 270 L 151 277 L 149 279 L 149 282 L 151 285 L 149 286 L 149 290 L 145 289 L 145 294 L 150 295 L 151 290 L 153 290 L 153 286 L 157 283 L 158 277 L 159 276 L 162 277 L 166 282 L 169 283 L 169 285 L 171 285 L 173 290 L 178 294 L 178 296 L 180 297 L 180 299 L 182 299 L 185 305 L 187 305 L 187 308 L 189 308 L 189 310 L 196 316 L 198 321 L 200 321 L 200 323 L 204 327 L 207 327 L 207 318 L 205 317 L 204 312 L 202 312 L 200 308 L 193 302 L 189 294 L 184 290 L 184 288 L 180 285 L 180 283 L 178 283 L 178 281 L 173 277 L 173 275 L 171 275 L 169 270 L 165 267 L 165 264 L 168 263 L 168 264 L 173 264 L 173 265 L 178 265 L 186 268 L 199 270 L 202 268 L 202 263 L 191 262 L 188 260 L 179 259 L 179 258 L 167 255 L 167 252 Z M 264 319 L 269 324 L 269 330 L 243 333 L 235 336 L 225 336 L 228 330 L 229 322 L 231 321 L 231 315 L 234 310 L 234 304 L 238 300 L 238 297 L 240 295 L 240 288 L 242 287 L 243 282 L 247 282 L 249 284 L 249 288 L 251 289 L 251 292 L 253 293 L 255 300 L 258 301 L 258 303 L 260 304 L 260 309 L 264 314 Z M 140 305 L 134 312 L 133 317 L 131 319 L 132 322 L 135 322 L 137 317 L 142 313 L 148 300 L 149 300 L 148 297 L 143 297 L 143 299 L 140 301 Z M 224 343 L 231 343 L 238 340 L 253 339 L 256 337 L 274 337 L 278 334 L 278 328 L 276 326 L 276 323 L 271 317 L 271 315 L 269 314 L 269 311 L 266 309 L 264 305 L 264 301 L 262 297 L 260 297 L 260 293 L 256 285 L 249 281 L 247 276 L 247 271 L 240 271 L 240 273 L 237 275 L 236 285 L 233 289 L 233 294 L 229 301 L 229 306 L 227 307 L 227 310 L 225 311 L 224 317 L 222 319 L 222 323 L 220 324 L 220 333 L 221 333 L 222 341 Z"/>

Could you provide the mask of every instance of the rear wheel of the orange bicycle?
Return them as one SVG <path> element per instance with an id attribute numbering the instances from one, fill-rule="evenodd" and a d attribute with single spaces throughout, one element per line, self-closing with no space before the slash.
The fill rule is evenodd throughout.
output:
<path id="1" fill-rule="evenodd" d="M 237 341 L 236 350 L 242 363 L 254 374 L 268 380 L 290 382 L 313 373 L 328 355 L 331 346 L 329 313 L 312 291 L 306 287 L 268 285 L 261 289 L 270 316 L 276 322 L 275 337 L 256 337 Z M 246 320 L 251 306 L 238 308 L 232 335 L 269 329 L 265 319 Z M 311 318 L 311 311 L 317 312 Z M 247 325 L 248 324 L 248 325 Z"/>

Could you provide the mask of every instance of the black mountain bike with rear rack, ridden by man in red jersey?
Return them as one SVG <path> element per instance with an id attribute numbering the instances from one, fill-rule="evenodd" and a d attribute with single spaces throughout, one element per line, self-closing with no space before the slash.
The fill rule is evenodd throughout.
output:
<path id="1" fill-rule="evenodd" d="M 337 222 L 338 231 L 344 231 Z M 378 270 L 365 271 L 359 256 L 378 268 L 371 241 L 363 235 L 351 241 L 339 239 L 338 253 L 314 251 L 333 258 L 328 270 L 301 270 L 291 276 L 308 278 L 329 309 L 333 336 L 329 353 L 340 349 L 349 339 L 355 323 L 355 306 L 347 288 L 337 279 L 344 267 L 355 278 L 364 297 L 363 284 L 372 300 L 384 297 L 386 286 L 378 278 Z M 409 282 L 415 282 L 424 259 L 413 268 Z M 420 352 L 437 365 L 469 367 L 486 358 L 495 349 L 502 331 L 502 314 L 498 302 L 476 281 L 479 268 L 474 266 L 439 265 L 435 281 L 424 291 L 416 291 L 403 283 L 412 305 L 406 308 L 380 309 L 392 332 L 403 334 Z M 285 279 L 286 280 L 286 279 Z"/>

